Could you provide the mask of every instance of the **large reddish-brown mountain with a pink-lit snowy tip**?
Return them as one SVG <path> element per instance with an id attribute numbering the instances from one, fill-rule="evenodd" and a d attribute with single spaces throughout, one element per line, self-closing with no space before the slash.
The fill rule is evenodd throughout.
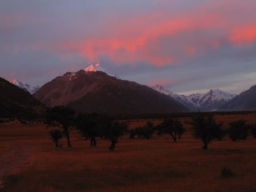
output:
<path id="1" fill-rule="evenodd" d="M 48 107 L 65 105 L 79 112 L 116 115 L 188 111 L 174 99 L 146 85 L 119 80 L 94 68 L 89 66 L 56 77 L 33 96 Z"/>

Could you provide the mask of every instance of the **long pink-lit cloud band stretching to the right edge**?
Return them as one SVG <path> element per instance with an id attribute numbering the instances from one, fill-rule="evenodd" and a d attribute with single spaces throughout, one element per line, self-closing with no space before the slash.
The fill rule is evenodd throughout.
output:
<path id="1" fill-rule="evenodd" d="M 162 3 L 167 6 L 173 1 Z M 186 58 L 200 57 L 227 42 L 233 46 L 255 42 L 255 7 L 252 0 L 227 0 L 205 1 L 183 12 L 154 9 L 143 15 L 121 17 L 108 23 L 108 28 L 102 27 L 99 33 L 81 39 L 72 37 L 33 46 L 61 57 L 67 54 L 64 59 L 70 61 L 72 54 L 78 54 L 89 63 L 103 56 L 113 64 L 182 64 Z M 238 17 L 241 9 L 246 12 Z"/>

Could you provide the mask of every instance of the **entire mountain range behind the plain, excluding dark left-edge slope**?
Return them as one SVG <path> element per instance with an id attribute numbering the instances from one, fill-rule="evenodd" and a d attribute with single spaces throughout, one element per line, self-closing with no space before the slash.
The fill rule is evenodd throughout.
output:
<path id="1" fill-rule="evenodd" d="M 184 96 L 168 91 L 162 85 L 149 88 L 136 82 L 120 80 L 99 64 L 78 72 L 67 72 L 42 88 L 23 84 L 18 80 L 12 80 L 11 83 L 16 85 L 15 88 L 18 86 L 33 94 L 34 98 L 48 107 L 65 105 L 80 112 L 141 114 L 256 110 L 256 85 L 238 96 L 219 89 Z M 7 91 L 3 101 L 9 102 L 9 94 Z M 0 106 L 3 104 L 4 102 Z"/>

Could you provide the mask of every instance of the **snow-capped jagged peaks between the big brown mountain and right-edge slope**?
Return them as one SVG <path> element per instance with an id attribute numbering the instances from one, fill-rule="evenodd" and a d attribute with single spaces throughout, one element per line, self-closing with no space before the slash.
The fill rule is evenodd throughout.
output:
<path id="1" fill-rule="evenodd" d="M 220 91 L 219 89 L 211 89 L 207 93 L 195 93 L 189 96 L 167 91 L 162 85 L 155 85 L 153 89 L 176 99 L 176 101 L 192 111 L 214 111 L 235 97 L 235 95 Z"/>

